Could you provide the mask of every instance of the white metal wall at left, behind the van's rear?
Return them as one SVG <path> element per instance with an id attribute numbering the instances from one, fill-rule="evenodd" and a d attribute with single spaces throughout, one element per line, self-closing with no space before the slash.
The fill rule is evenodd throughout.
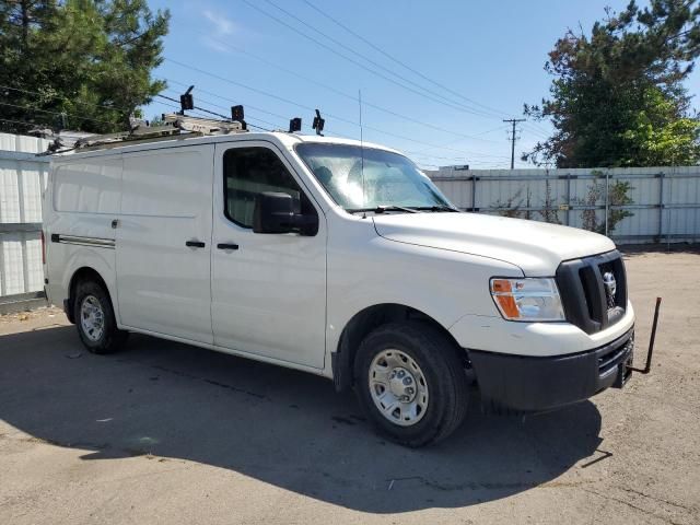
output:
<path id="1" fill-rule="evenodd" d="M 44 289 L 42 192 L 47 140 L 0 133 L 0 296 Z"/>

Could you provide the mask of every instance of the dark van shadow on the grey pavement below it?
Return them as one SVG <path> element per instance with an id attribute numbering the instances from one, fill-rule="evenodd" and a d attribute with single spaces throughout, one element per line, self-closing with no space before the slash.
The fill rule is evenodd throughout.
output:
<path id="1" fill-rule="evenodd" d="M 0 419 L 93 451 L 85 460 L 183 458 L 374 513 L 504 498 L 600 443 L 586 401 L 524 422 L 472 407 L 446 442 L 408 450 L 378 438 L 329 381 L 144 336 L 93 355 L 72 326 L 0 337 Z"/>

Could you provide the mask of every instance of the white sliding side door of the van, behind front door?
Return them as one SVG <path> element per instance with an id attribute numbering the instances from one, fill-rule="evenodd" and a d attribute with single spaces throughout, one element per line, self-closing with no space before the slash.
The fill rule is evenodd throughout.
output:
<path id="1" fill-rule="evenodd" d="M 212 144 L 124 154 L 117 228 L 124 327 L 213 342 L 212 163 Z"/>

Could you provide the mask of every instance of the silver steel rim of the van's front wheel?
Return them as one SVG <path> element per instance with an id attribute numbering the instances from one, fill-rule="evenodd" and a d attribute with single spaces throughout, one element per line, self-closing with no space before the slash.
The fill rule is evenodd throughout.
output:
<path id="1" fill-rule="evenodd" d="M 428 383 L 418 363 L 400 350 L 380 352 L 370 365 L 370 394 L 382 416 L 410 427 L 428 409 Z"/>

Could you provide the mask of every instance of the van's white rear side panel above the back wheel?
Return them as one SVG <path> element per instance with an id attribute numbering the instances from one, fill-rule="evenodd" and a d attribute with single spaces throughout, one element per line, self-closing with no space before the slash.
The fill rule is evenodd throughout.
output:
<path id="1" fill-rule="evenodd" d="M 52 165 L 44 201 L 47 293 L 62 306 L 70 280 L 82 267 L 96 270 L 116 312 L 115 231 L 119 212 L 121 159 L 100 156 Z"/>

